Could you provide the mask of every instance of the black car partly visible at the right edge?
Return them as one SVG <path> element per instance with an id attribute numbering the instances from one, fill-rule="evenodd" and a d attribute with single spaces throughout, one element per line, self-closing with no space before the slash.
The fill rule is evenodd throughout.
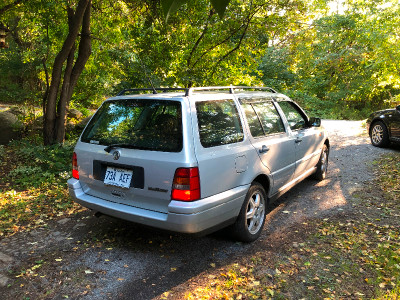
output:
<path id="1" fill-rule="evenodd" d="M 391 142 L 400 142 L 400 105 L 373 112 L 367 119 L 367 130 L 372 145 L 376 147 L 387 147 Z"/>

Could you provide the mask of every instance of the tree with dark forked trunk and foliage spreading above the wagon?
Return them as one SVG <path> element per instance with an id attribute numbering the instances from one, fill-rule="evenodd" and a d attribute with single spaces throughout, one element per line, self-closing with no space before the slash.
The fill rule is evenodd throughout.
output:
<path id="1" fill-rule="evenodd" d="M 63 142 L 70 103 L 85 107 L 113 86 L 147 87 L 144 73 L 157 86 L 258 83 L 267 44 L 305 9 L 303 0 L 165 2 L 32 0 L 9 14 L 22 41 L 15 48 L 44 95 L 45 144 Z"/>

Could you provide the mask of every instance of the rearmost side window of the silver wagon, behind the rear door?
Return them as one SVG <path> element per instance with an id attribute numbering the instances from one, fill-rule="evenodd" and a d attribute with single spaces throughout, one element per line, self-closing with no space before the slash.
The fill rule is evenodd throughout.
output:
<path id="1" fill-rule="evenodd" d="M 233 100 L 196 102 L 200 142 L 205 148 L 243 141 L 243 129 Z"/>

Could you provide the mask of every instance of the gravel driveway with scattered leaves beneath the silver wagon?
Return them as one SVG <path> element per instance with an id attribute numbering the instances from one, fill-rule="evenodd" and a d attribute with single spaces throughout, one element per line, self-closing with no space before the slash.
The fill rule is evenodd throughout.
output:
<path id="1" fill-rule="evenodd" d="M 85 211 L 0 241 L 1 298 L 152 299 L 177 286 L 191 288 L 193 278 L 241 256 L 288 242 L 281 233 L 293 225 L 351 210 L 352 194 L 373 178 L 372 162 L 400 153 L 399 147 L 373 147 L 361 121 L 323 125 L 331 142 L 326 180 L 306 179 L 281 197 L 256 242 L 236 243 L 223 231 L 175 234 Z M 28 276 L 17 277 L 23 270 Z"/>

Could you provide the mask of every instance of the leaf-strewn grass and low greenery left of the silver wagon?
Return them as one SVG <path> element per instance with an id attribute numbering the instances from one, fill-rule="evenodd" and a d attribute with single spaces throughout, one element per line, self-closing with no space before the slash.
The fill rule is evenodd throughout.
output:
<path id="1" fill-rule="evenodd" d="M 0 236 L 43 226 L 79 206 L 68 196 L 74 141 L 43 146 L 38 137 L 0 148 Z"/>

